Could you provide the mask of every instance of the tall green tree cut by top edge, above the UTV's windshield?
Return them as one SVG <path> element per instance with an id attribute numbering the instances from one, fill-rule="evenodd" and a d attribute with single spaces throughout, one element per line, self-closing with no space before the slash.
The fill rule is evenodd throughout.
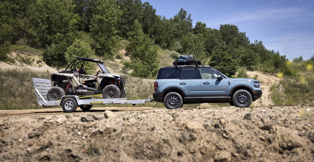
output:
<path id="1" fill-rule="evenodd" d="M 114 0 L 99 0 L 91 20 L 91 37 L 97 53 L 105 58 L 113 58 L 113 48 L 117 46 L 117 25 L 122 12 Z"/>

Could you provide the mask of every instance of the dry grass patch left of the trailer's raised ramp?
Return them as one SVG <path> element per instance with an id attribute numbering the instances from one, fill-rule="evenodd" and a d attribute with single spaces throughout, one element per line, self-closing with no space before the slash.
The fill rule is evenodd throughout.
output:
<path id="1" fill-rule="evenodd" d="M 32 78 L 50 78 L 49 72 L 0 69 L 0 110 L 40 109 Z"/>

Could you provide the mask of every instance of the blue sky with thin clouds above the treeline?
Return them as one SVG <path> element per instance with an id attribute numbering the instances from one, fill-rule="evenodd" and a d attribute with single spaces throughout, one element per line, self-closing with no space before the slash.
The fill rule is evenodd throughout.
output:
<path id="1" fill-rule="evenodd" d="M 180 8 L 192 15 L 193 25 L 201 21 L 210 28 L 237 25 L 251 43 L 262 40 L 267 49 L 279 51 L 289 60 L 314 55 L 314 0 L 207 1 L 143 0 L 156 14 L 171 18 Z"/>

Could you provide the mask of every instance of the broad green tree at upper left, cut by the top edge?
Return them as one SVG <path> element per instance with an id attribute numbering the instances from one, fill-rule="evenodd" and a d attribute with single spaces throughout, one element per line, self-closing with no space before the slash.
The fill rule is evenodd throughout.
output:
<path id="1" fill-rule="evenodd" d="M 30 5 L 30 42 L 37 47 L 59 43 L 77 29 L 78 15 L 71 0 L 36 0 Z"/>

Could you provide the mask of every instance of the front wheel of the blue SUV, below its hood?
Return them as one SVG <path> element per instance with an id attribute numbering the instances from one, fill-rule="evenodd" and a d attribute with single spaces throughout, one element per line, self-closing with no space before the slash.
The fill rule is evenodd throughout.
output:
<path id="1" fill-rule="evenodd" d="M 252 95 L 247 90 L 240 89 L 233 94 L 232 102 L 236 107 L 249 107 L 252 103 Z"/>

